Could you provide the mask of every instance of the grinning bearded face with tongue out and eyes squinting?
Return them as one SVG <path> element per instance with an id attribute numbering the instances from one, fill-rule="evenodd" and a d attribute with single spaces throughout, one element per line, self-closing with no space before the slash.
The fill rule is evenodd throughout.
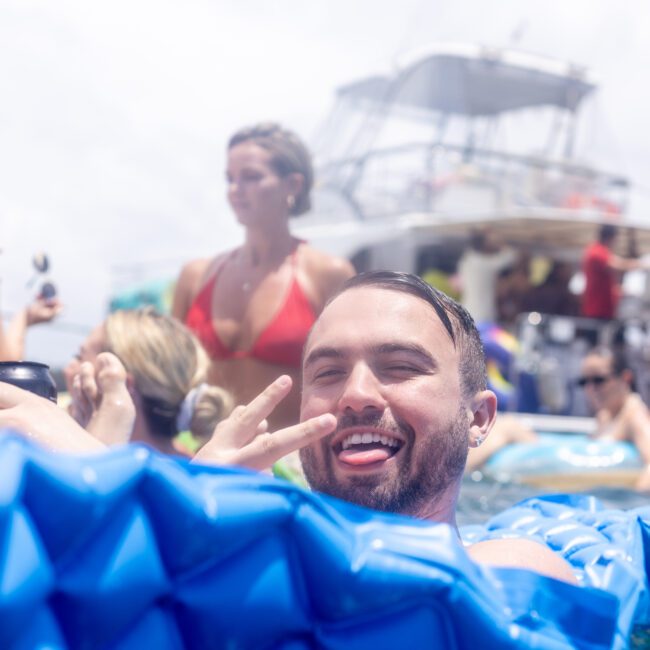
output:
<path id="1" fill-rule="evenodd" d="M 425 301 L 365 286 L 325 308 L 305 347 L 301 420 L 323 413 L 338 426 L 301 451 L 312 488 L 417 516 L 455 502 L 471 411 L 458 351 Z"/>

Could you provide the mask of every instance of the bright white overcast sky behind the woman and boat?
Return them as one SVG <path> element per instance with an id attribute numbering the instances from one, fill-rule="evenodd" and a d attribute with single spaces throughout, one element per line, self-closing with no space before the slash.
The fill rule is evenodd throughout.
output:
<path id="1" fill-rule="evenodd" d="M 28 299 L 46 250 L 66 311 L 27 357 L 65 362 L 137 267 L 173 275 L 239 241 L 232 131 L 272 119 L 309 141 L 337 86 L 437 40 L 518 35 L 589 65 L 595 162 L 650 187 L 649 14 L 645 0 L 0 0 L 2 309 Z"/>

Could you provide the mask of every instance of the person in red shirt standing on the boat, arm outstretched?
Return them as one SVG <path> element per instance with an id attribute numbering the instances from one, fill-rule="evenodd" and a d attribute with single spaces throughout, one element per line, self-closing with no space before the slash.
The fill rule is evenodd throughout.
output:
<path id="1" fill-rule="evenodd" d="M 582 270 L 585 274 L 585 291 L 582 295 L 582 315 L 589 318 L 616 317 L 621 287 L 619 273 L 642 266 L 636 259 L 619 257 L 612 252 L 618 228 L 601 226 L 598 241 L 585 250 Z"/>

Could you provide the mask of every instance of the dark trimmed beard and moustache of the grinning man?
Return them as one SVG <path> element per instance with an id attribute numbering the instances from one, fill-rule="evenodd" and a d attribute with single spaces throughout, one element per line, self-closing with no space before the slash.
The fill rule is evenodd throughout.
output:
<path id="1" fill-rule="evenodd" d="M 406 442 L 398 452 L 397 474 L 383 472 L 365 476 L 347 476 L 343 482 L 334 474 L 334 456 L 330 440 L 339 430 L 351 426 L 368 426 L 401 434 Z M 421 434 L 415 449 L 415 432 L 405 422 L 396 422 L 386 416 L 345 415 L 339 420 L 337 431 L 316 443 L 320 445 L 323 461 L 319 461 L 313 447 L 300 450 L 305 476 L 312 489 L 350 501 L 366 508 L 384 512 L 416 515 L 435 506 L 447 489 L 463 474 L 467 460 L 468 425 L 461 408 L 446 430 Z"/>

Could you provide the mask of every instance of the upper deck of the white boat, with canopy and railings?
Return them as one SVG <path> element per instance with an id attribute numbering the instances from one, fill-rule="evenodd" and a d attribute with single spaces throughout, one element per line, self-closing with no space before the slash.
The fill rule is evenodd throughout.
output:
<path id="1" fill-rule="evenodd" d="M 317 191 L 295 231 L 357 268 L 451 271 L 471 229 L 575 260 L 595 224 L 639 228 L 628 181 L 575 153 L 590 72 L 479 45 L 436 45 L 338 89 L 315 143 Z M 625 243 L 625 238 L 621 238 Z"/>

